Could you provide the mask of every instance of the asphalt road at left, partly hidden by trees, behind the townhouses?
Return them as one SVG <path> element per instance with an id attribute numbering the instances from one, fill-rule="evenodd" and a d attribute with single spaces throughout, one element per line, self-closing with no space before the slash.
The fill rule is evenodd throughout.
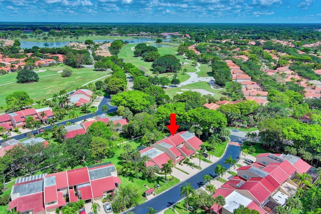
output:
<path id="1" fill-rule="evenodd" d="M 103 105 L 107 105 L 108 106 L 108 113 L 109 112 L 114 112 L 114 111 L 117 111 L 117 106 L 111 106 L 109 105 L 109 101 L 110 101 L 110 96 L 105 96 L 102 101 L 100 102 L 99 106 L 98 106 L 98 110 L 95 112 L 95 113 L 90 113 L 90 114 L 86 114 L 86 115 L 82 115 L 80 117 L 78 117 L 77 119 L 75 119 L 75 121 L 73 119 L 70 119 L 70 120 L 65 120 L 65 121 L 62 121 L 62 122 L 59 122 L 59 123 L 56 123 L 57 126 L 63 124 L 63 125 L 66 125 L 67 122 L 78 122 L 78 121 L 82 121 L 84 119 L 87 119 L 87 118 L 91 118 L 91 117 L 95 117 L 96 115 L 99 115 L 99 114 L 103 114 L 105 113 L 104 111 L 101 110 L 102 106 Z M 51 129 L 51 126 L 46 126 L 46 127 L 43 127 L 41 129 Z M 30 131 L 31 132 L 31 131 Z M 17 136 L 11 136 L 11 138 L 14 138 L 16 140 L 21 140 L 21 139 L 24 139 L 27 137 L 27 134 L 30 133 L 30 132 L 27 132 L 27 133 L 23 133 L 23 134 L 20 134 L 20 135 L 17 135 Z M 37 130 L 34 130 L 33 131 L 34 134 L 37 134 Z M 3 140 L 0 140 L 0 143 L 3 142 Z"/>

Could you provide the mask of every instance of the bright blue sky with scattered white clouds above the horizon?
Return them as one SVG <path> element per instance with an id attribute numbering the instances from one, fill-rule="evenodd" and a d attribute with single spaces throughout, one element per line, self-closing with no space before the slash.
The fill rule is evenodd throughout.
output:
<path id="1" fill-rule="evenodd" d="M 1 22 L 321 23 L 321 0 L 0 0 Z"/>

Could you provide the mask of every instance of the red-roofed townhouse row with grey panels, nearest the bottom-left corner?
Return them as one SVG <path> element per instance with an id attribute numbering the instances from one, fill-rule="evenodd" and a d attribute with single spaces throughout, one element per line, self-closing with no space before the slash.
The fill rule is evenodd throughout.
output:
<path id="1" fill-rule="evenodd" d="M 22 177 L 13 186 L 8 210 L 16 208 L 20 212 L 35 214 L 55 212 L 68 202 L 101 200 L 120 183 L 117 170 L 110 163 Z"/>

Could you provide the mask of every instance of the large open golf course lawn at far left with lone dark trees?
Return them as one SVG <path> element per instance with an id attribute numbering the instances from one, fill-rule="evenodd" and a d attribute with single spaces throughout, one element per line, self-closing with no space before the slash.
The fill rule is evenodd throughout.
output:
<path id="1" fill-rule="evenodd" d="M 66 89 L 67 92 L 75 90 L 82 84 L 89 81 L 98 79 L 100 77 L 106 76 L 109 72 L 98 72 L 93 71 L 93 69 L 81 68 L 74 69 L 73 74 L 70 77 L 61 77 L 57 70 L 60 71 L 66 68 L 65 65 L 59 65 L 57 67 L 47 67 L 39 68 L 37 70 L 46 70 L 45 72 L 38 73 L 39 81 L 34 83 L 18 84 L 16 83 L 17 73 L 9 73 L 0 76 L 1 84 L 11 83 L 8 85 L 0 86 L 0 106 L 6 105 L 5 98 L 12 94 L 14 91 L 25 91 L 27 92 L 34 101 L 41 99 L 51 98 L 53 94 L 59 93 L 61 89 Z"/>

